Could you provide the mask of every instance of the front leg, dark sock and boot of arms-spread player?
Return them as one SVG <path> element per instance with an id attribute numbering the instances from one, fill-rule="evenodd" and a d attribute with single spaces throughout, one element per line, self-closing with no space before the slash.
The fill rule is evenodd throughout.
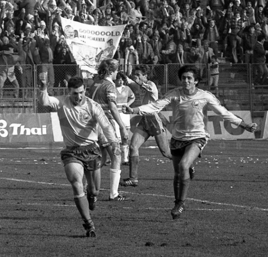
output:
<path id="1" fill-rule="evenodd" d="M 197 145 L 191 144 L 185 148 L 184 152 L 182 151 L 178 155 L 172 156 L 174 167 L 173 189 L 175 196 L 175 206 L 171 210 L 173 219 L 180 217 L 185 209 L 185 200 L 190 185 L 189 168 L 199 156 L 200 151 Z"/>

